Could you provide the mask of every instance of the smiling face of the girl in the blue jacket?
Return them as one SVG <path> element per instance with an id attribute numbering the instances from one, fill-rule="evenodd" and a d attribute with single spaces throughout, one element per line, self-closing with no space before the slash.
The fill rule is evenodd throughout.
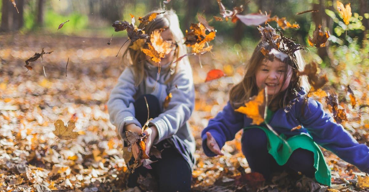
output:
<path id="1" fill-rule="evenodd" d="M 285 77 L 286 81 L 283 83 Z M 255 78 L 259 90 L 268 87 L 268 95 L 275 95 L 287 89 L 292 78 L 292 68 L 277 59 L 263 60 Z"/>

